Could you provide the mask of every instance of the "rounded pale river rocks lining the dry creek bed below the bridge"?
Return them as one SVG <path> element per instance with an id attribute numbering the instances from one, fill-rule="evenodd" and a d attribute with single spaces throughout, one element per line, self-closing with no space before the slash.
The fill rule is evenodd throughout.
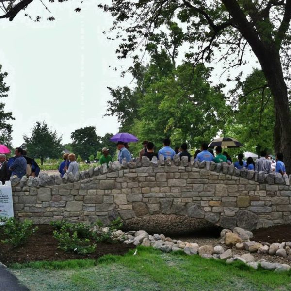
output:
<path id="1" fill-rule="evenodd" d="M 239 227 L 234 228 L 233 232 L 228 229 L 222 230 L 220 243 L 226 245 L 227 249 L 224 249 L 221 245 L 216 245 L 214 247 L 212 245 L 199 246 L 197 243 L 174 240 L 169 237 L 165 237 L 163 234 L 149 235 L 144 230 L 139 230 L 136 232 L 129 231 L 127 233 L 123 233 L 118 230 L 118 235 L 117 233 L 114 235 L 115 238 L 119 241 L 123 241 L 124 243 L 132 243 L 136 246 L 152 246 L 153 248 L 163 252 L 184 251 L 187 255 L 199 255 L 202 258 L 207 259 L 223 259 L 226 260 L 227 263 L 241 261 L 254 269 L 258 269 L 260 265 L 264 269 L 274 270 L 275 272 L 289 271 L 291 269 L 291 267 L 287 264 L 271 263 L 265 259 L 256 261 L 255 257 L 249 253 L 268 253 L 281 257 L 286 254 L 287 256 L 287 253 L 289 254 L 291 249 L 291 242 L 272 244 L 253 242 L 250 241 L 250 238 L 253 236 L 252 232 Z M 229 248 L 233 246 L 240 250 L 246 250 L 248 253 L 233 255 L 231 248 Z"/>

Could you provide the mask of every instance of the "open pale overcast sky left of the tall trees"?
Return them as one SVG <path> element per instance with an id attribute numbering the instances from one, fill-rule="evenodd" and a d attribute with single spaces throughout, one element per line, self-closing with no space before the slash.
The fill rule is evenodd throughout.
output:
<path id="1" fill-rule="evenodd" d="M 82 4 L 80 13 L 74 12 L 76 6 L 55 2 L 49 5 L 49 15 L 40 1 L 33 1 L 25 12 L 43 16 L 41 22 L 33 22 L 24 12 L 12 22 L 0 20 L 0 64 L 9 74 L 10 86 L 9 97 L 1 101 L 16 118 L 14 146 L 20 146 L 23 134 L 30 135 L 33 124 L 42 120 L 63 136 L 63 143 L 84 126 L 96 126 L 101 136 L 118 131 L 116 117 L 103 117 L 111 98 L 107 86 L 129 85 L 130 76 L 121 78 L 113 67 L 128 67 L 130 60 L 117 60 L 117 43 L 102 33 L 112 24 L 110 15 L 94 0 Z M 47 21 L 48 16 L 56 20 Z"/>

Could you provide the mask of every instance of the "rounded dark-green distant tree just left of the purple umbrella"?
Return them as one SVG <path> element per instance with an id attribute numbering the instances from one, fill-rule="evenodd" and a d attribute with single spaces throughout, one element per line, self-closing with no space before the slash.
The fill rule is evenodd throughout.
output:
<path id="1" fill-rule="evenodd" d="M 87 126 L 71 133 L 72 149 L 83 160 L 89 160 L 90 155 L 100 150 L 100 136 L 96 134 L 95 126 Z"/>

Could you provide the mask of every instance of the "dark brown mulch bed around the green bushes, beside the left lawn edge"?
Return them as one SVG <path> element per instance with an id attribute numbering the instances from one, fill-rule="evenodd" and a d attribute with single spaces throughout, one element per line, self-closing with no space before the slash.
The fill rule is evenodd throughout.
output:
<path id="1" fill-rule="evenodd" d="M 93 254 L 78 255 L 65 253 L 57 248 L 56 239 L 52 236 L 54 228 L 49 225 L 38 225 L 38 230 L 19 248 L 12 249 L 0 242 L 0 262 L 5 265 L 12 263 L 25 263 L 39 260 L 66 260 L 66 259 L 97 259 L 103 255 L 123 255 L 135 245 L 125 243 L 98 243 Z M 0 234 L 0 238 L 2 235 Z"/>

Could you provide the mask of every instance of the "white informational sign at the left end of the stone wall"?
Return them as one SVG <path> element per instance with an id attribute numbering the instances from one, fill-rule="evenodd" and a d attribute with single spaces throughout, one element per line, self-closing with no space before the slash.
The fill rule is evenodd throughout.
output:
<path id="1" fill-rule="evenodd" d="M 0 182 L 0 218 L 13 216 L 11 182 L 6 181 L 4 185 Z"/>

